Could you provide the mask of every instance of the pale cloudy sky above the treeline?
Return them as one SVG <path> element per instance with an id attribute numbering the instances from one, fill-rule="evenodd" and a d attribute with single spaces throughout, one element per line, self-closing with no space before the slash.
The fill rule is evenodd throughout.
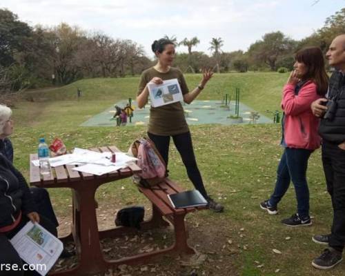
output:
<path id="1" fill-rule="evenodd" d="M 130 39 L 152 57 L 152 41 L 164 35 L 178 41 L 198 37 L 193 50 L 208 55 L 213 37 L 224 41 L 224 52 L 246 51 L 265 33 L 278 30 L 302 39 L 345 8 L 345 0 L 1 0 L 0 8 L 8 8 L 30 26 L 66 22 Z M 177 52 L 187 48 L 179 46 Z"/>

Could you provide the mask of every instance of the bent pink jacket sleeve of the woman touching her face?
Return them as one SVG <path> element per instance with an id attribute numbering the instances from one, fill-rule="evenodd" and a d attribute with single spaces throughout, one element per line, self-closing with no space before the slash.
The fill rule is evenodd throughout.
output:
<path id="1" fill-rule="evenodd" d="M 317 87 L 315 83 L 309 82 L 295 95 L 295 86 L 286 84 L 283 90 L 282 109 L 286 115 L 296 116 L 308 109 L 311 103 L 317 99 Z"/>

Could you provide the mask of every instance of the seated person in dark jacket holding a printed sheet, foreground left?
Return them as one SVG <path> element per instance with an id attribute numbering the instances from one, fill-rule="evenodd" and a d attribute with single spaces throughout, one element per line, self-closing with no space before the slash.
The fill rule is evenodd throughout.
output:
<path id="1" fill-rule="evenodd" d="M 23 175 L 0 154 L 0 264 L 23 266 L 23 261 L 10 243 L 26 223 L 39 223 L 57 236 L 56 226 L 35 212 L 34 201 Z M 2 274 L 5 273 L 5 274 Z M 30 273 L 30 274 L 28 274 Z M 0 275 L 39 275 L 34 271 L 1 271 Z"/>

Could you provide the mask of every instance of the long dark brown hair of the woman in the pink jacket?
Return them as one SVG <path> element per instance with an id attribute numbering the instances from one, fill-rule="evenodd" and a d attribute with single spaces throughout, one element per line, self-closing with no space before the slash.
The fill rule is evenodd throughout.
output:
<path id="1" fill-rule="evenodd" d="M 318 47 L 303 48 L 296 53 L 295 59 L 298 62 L 304 63 L 308 68 L 302 79 L 313 81 L 317 86 L 317 94 L 320 96 L 326 95 L 328 75 L 324 66 L 322 50 Z"/>

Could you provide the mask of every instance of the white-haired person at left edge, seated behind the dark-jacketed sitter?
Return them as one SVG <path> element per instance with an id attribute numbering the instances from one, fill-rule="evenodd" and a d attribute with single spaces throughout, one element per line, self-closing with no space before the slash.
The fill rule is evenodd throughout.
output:
<path id="1" fill-rule="evenodd" d="M 13 163 L 13 147 L 8 137 L 12 135 L 13 127 L 12 110 L 0 104 L 0 153 L 11 163 Z M 30 193 L 34 201 L 34 210 L 36 212 L 39 210 L 39 213 L 49 219 L 55 227 L 59 226 L 48 191 L 44 188 L 32 187 Z"/>

